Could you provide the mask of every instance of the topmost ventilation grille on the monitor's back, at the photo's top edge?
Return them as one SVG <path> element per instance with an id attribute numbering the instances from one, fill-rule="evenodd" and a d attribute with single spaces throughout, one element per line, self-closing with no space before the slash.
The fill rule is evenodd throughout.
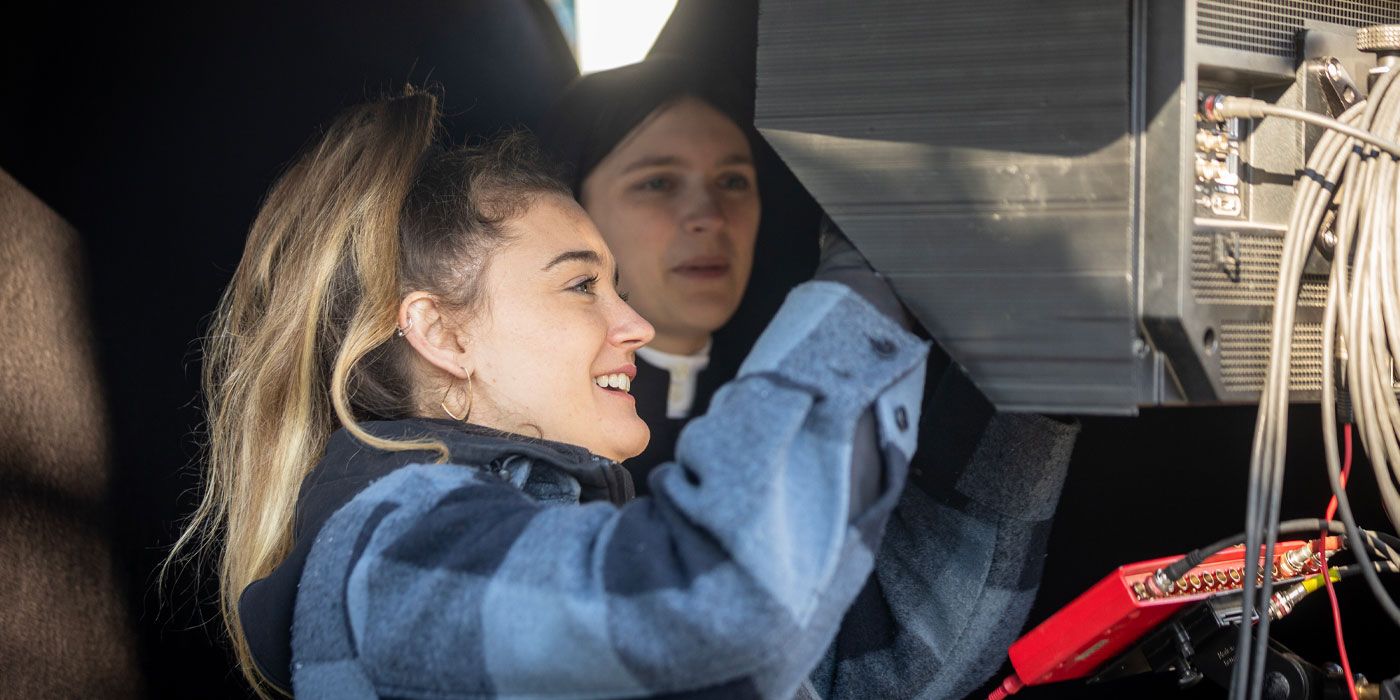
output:
<path id="1" fill-rule="evenodd" d="M 1400 0 L 1200 0 L 1196 39 L 1211 46 L 1294 57 L 1303 20 L 1347 27 L 1400 22 Z"/>

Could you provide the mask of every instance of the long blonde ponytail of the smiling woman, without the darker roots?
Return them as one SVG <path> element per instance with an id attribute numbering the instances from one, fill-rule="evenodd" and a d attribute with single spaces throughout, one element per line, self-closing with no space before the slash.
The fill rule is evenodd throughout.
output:
<path id="1" fill-rule="evenodd" d="M 265 696 L 238 596 L 291 547 L 298 489 L 330 433 L 445 458 L 435 442 L 365 433 L 347 396 L 354 368 L 393 335 L 399 216 L 437 123 L 424 92 L 336 119 L 267 195 L 204 342 L 207 483 L 167 567 L 217 543 L 224 624 Z"/>

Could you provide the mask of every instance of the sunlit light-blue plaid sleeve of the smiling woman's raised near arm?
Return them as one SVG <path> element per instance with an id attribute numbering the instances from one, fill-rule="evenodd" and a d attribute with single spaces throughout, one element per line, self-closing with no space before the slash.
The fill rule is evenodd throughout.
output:
<path id="1" fill-rule="evenodd" d="M 871 571 L 925 353 L 848 288 L 808 283 L 650 498 L 549 507 L 469 468 L 393 472 L 312 547 L 297 693 L 791 697 Z M 867 413 L 882 491 L 853 510 Z"/>

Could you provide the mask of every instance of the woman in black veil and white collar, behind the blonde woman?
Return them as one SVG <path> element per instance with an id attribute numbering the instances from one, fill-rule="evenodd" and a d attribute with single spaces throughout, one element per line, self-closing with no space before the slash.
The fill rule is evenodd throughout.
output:
<path id="1" fill-rule="evenodd" d="M 798 281 L 815 262 L 755 263 L 757 134 L 748 105 L 736 81 L 654 57 L 575 81 L 542 133 L 617 249 L 620 287 L 657 326 L 631 389 L 651 426 L 647 451 L 627 462 L 638 494 L 777 309 L 787 288 L 767 288 L 783 277 L 774 267 L 787 265 Z M 815 252 L 812 238 L 804 252 Z M 791 274 L 792 266 L 805 269 Z M 753 277 L 769 284 L 745 298 Z"/>

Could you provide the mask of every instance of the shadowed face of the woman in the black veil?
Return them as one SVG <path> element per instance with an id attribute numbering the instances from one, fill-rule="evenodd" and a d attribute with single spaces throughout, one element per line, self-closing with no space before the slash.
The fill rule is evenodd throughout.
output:
<path id="1" fill-rule="evenodd" d="M 753 269 L 759 190 L 743 132 L 683 98 L 651 113 L 584 179 L 580 197 L 617 255 L 622 288 L 690 354 L 739 307 Z"/>

